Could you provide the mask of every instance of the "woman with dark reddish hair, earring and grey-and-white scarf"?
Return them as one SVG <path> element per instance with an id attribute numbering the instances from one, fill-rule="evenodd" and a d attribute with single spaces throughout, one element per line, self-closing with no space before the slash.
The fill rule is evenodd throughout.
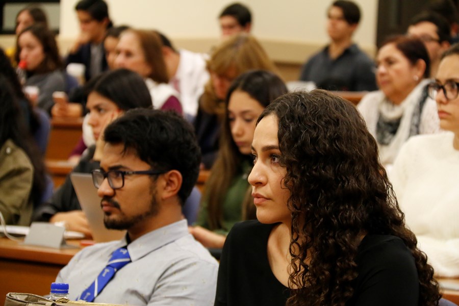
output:
<path id="1" fill-rule="evenodd" d="M 390 37 L 379 48 L 376 64 L 379 90 L 366 94 L 357 108 L 388 167 L 409 137 L 437 133 L 439 119 L 435 101 L 427 96 L 430 60 L 422 41 Z"/>

